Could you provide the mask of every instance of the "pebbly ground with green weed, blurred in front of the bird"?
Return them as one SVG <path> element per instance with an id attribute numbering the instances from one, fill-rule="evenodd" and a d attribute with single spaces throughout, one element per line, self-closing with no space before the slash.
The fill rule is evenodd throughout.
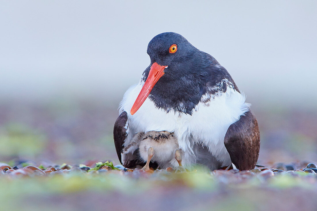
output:
<path id="1" fill-rule="evenodd" d="M 258 165 L 250 171 L 212 172 L 198 166 L 191 171 L 170 167 L 145 171 L 122 165 L 99 165 L 94 170 L 98 163 L 27 164 L 0 164 L 3 210 L 134 211 L 146 207 L 154 211 L 217 211 L 270 210 L 272 206 L 275 210 L 315 210 L 317 206 L 314 163 L 276 163 Z M 287 170 L 291 167 L 293 170 Z"/>

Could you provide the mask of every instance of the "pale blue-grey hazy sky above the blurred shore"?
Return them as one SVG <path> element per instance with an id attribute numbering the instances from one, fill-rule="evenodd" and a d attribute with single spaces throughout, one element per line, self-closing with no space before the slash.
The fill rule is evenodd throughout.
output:
<path id="1" fill-rule="evenodd" d="M 119 99 L 149 65 L 148 42 L 173 31 L 249 99 L 316 102 L 317 1 L 240 2 L 1 1 L 0 96 Z"/>

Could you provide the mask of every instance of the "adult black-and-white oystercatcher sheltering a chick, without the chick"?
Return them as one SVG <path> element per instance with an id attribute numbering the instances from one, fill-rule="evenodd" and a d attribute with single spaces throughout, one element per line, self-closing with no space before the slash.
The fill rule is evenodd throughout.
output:
<path id="1" fill-rule="evenodd" d="M 168 131 L 177 138 L 186 168 L 253 169 L 260 149 L 257 120 L 227 70 L 173 32 L 156 35 L 147 53 L 151 63 L 124 94 L 114 125 L 120 162 L 127 168 L 144 165 L 138 149 L 122 149 L 138 132 Z M 178 166 L 176 159 L 169 164 Z"/>

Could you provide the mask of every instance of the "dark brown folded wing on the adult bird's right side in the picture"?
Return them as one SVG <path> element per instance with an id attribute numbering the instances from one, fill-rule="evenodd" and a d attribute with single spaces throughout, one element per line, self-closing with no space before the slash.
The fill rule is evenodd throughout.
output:
<path id="1" fill-rule="evenodd" d="M 224 145 L 237 169 L 250 170 L 255 167 L 260 151 L 260 131 L 251 111 L 230 125 L 224 137 Z"/>

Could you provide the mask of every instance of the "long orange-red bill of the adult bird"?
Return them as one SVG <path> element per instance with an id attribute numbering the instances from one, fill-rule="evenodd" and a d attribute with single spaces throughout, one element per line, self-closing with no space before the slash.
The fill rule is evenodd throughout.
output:
<path id="1" fill-rule="evenodd" d="M 153 86 L 158 82 L 158 80 L 164 75 L 164 69 L 167 66 L 161 66 L 158 63 L 154 62 L 150 68 L 149 76 L 147 77 L 137 99 L 135 100 L 130 113 L 133 115 L 135 112 L 139 110 L 141 105 L 146 100 L 147 96 L 149 96 L 152 91 Z"/>

